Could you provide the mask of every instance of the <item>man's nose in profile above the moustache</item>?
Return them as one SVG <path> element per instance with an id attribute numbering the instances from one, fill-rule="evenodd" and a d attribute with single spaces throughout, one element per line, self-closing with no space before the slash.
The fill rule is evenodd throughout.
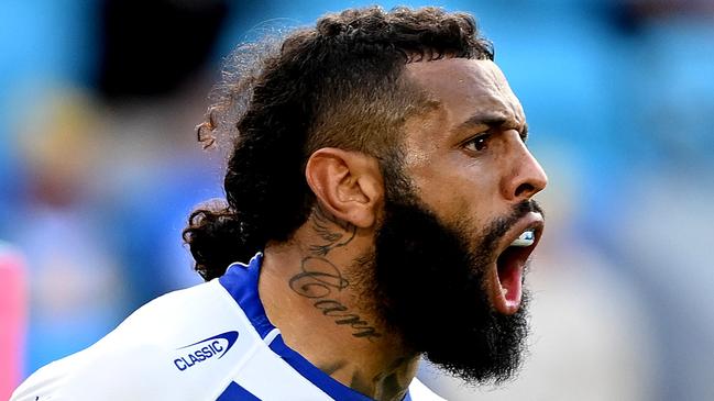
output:
<path id="1" fill-rule="evenodd" d="M 503 178 L 501 188 L 507 200 L 521 202 L 542 191 L 548 176 L 523 142 L 516 146 L 518 151 L 513 156 L 510 174 Z"/>

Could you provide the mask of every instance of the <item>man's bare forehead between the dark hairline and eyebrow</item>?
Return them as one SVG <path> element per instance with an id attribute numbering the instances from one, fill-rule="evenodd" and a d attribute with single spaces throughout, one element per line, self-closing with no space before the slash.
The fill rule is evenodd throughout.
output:
<path id="1" fill-rule="evenodd" d="M 447 58 L 411 63 L 405 75 L 438 102 L 452 123 L 474 114 L 502 118 L 514 126 L 525 123 L 520 102 L 491 60 Z"/>

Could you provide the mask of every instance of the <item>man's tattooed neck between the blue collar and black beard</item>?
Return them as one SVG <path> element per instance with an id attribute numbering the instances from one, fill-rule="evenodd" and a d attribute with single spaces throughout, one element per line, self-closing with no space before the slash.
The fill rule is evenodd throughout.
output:
<path id="1" fill-rule="evenodd" d="M 259 291 L 283 339 L 336 380 L 375 400 L 402 400 L 419 355 L 364 302 L 359 255 L 372 237 L 315 213 L 286 244 L 268 245 Z"/>

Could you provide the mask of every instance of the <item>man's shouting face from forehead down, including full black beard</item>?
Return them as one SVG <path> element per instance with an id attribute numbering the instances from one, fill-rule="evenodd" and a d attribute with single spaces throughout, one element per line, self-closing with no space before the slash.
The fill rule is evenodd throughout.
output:
<path id="1" fill-rule="evenodd" d="M 505 380 L 519 361 L 524 268 L 542 230 L 530 198 L 547 178 L 495 64 L 444 59 L 406 74 L 437 107 L 406 123 L 403 155 L 385 169 L 377 308 L 433 363 L 470 381 Z M 532 244 L 510 246 L 526 231 Z"/>

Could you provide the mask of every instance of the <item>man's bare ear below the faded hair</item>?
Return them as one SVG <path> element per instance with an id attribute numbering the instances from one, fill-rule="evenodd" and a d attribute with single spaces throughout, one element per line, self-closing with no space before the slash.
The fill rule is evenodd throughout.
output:
<path id="1" fill-rule="evenodd" d="M 361 229 L 375 224 L 384 192 L 376 158 L 323 147 L 307 160 L 305 177 L 332 215 Z"/>

